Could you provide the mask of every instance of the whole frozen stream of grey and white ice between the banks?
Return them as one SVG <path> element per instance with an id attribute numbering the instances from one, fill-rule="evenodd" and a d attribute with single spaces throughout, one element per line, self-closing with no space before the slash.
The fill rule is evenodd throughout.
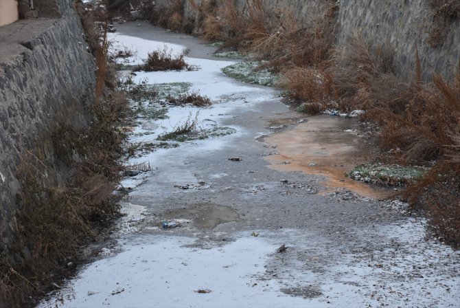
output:
<path id="1" fill-rule="evenodd" d="M 189 48 L 187 63 L 201 69 L 137 72 L 135 83 L 191 83 L 216 103 L 141 118 L 130 141 L 154 142 L 190 115 L 200 128 L 235 133 L 130 159 L 152 171 L 124 179 L 115 244 L 39 307 L 460 307 L 459 252 L 427 238 L 404 204 L 328 188 L 305 168 L 268 168 L 264 158 L 279 154 L 267 142 L 279 133 L 273 123 L 289 131 L 306 121 L 275 89 L 228 78 L 220 69 L 233 62 L 198 39 L 136 25 L 111 35 L 137 51 L 130 63 L 168 44 Z"/>

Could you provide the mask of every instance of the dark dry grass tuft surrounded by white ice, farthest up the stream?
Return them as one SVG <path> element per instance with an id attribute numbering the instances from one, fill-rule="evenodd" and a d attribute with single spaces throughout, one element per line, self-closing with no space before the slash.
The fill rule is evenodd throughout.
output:
<path id="1" fill-rule="evenodd" d="M 174 56 L 173 50 L 169 50 L 168 46 L 163 47 L 163 49 L 154 50 L 153 52 L 148 53 L 148 58 L 144 61 L 143 65 L 136 67 L 134 69 L 137 71 L 146 71 L 146 72 L 156 72 L 156 71 L 181 71 L 186 69 L 187 71 L 192 71 L 198 69 L 194 65 L 189 65 L 185 62 L 185 56 L 187 51 L 182 52 Z"/>

